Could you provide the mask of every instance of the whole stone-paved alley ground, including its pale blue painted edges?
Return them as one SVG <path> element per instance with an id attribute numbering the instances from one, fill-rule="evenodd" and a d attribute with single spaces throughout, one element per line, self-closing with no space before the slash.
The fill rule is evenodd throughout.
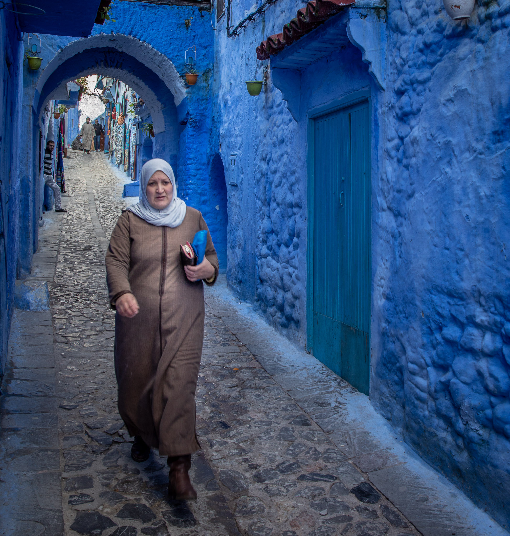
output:
<path id="1" fill-rule="evenodd" d="M 2 384 L 1 534 L 505 534 L 403 445 L 367 397 L 279 336 L 225 277 L 207 288 L 194 502 L 166 459 L 130 457 L 117 414 L 105 251 L 122 181 L 70 151 L 66 214 L 47 213 L 34 271 L 50 310 L 14 313 Z"/>

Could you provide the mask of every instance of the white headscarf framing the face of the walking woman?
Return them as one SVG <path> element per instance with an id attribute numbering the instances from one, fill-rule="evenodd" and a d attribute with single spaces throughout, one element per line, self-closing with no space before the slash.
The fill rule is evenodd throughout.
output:
<path id="1" fill-rule="evenodd" d="M 154 209 L 147 200 L 147 183 L 149 179 L 157 171 L 162 171 L 172 182 L 173 196 L 170 204 L 166 209 Z M 144 219 L 148 224 L 159 225 L 166 227 L 179 227 L 182 224 L 184 216 L 186 216 L 186 203 L 177 197 L 177 189 L 175 188 L 175 177 L 172 167 L 165 160 L 153 158 L 145 162 L 142 167 L 142 179 L 140 181 L 140 200 L 138 203 L 128 207 L 128 210 L 140 218 Z"/>

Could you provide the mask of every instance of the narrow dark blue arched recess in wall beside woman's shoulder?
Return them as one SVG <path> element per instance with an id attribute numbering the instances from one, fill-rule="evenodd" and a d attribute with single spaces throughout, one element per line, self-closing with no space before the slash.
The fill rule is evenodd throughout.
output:
<path id="1" fill-rule="evenodd" d="M 220 273 L 224 273 L 227 269 L 227 185 L 219 154 L 214 155 L 209 168 L 209 204 L 211 210 L 206 221 L 218 254 Z"/>

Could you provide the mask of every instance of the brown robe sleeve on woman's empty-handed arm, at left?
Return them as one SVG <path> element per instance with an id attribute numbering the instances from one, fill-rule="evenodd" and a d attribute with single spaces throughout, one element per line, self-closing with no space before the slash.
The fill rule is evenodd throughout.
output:
<path id="1" fill-rule="evenodd" d="M 128 279 L 131 264 L 131 240 L 129 237 L 129 217 L 125 212 L 121 214 L 113 229 L 105 260 L 110 306 L 115 309 L 115 301 L 120 296 L 131 294 L 131 285 Z"/>

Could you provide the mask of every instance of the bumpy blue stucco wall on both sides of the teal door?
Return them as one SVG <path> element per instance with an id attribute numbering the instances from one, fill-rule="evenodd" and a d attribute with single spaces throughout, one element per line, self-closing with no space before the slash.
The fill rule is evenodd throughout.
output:
<path id="1" fill-rule="evenodd" d="M 228 155 L 240 155 L 239 187 L 227 186 L 229 285 L 305 346 L 305 110 L 369 85 L 371 398 L 413 448 L 508 523 L 510 2 L 480 2 L 460 23 L 440 0 L 390 0 L 386 91 L 357 49 L 339 49 L 302 70 L 293 121 L 271 83 L 251 97 L 243 82 L 261 77 L 255 47 L 298 4 L 270 6 L 235 39 L 223 20 L 216 35 L 227 182 Z M 250 7 L 233 6 L 233 23 Z"/>

